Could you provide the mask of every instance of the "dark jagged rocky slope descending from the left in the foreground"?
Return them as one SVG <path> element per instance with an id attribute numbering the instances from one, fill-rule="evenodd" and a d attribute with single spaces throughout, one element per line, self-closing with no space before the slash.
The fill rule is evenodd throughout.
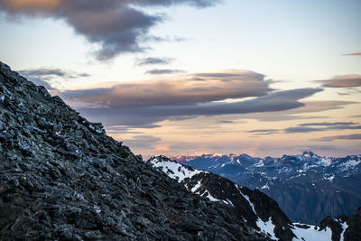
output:
<path id="1" fill-rule="evenodd" d="M 0 240 L 34 239 L 268 237 L 0 62 Z"/>

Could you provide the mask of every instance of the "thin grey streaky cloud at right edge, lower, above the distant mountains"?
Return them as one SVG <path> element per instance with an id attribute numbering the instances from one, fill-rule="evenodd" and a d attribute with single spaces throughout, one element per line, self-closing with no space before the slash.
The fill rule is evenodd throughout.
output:
<path id="1" fill-rule="evenodd" d="M 306 123 L 295 127 L 284 129 L 285 133 L 310 133 L 332 130 L 361 130 L 361 125 L 353 122 L 334 122 L 334 123 Z"/>

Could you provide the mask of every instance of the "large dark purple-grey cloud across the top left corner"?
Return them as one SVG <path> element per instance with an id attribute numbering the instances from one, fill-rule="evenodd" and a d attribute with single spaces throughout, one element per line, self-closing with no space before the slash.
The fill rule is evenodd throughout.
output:
<path id="1" fill-rule="evenodd" d="M 150 29 L 165 21 L 160 14 L 147 14 L 142 7 L 192 5 L 208 7 L 218 0 L 0 0 L 0 11 L 10 16 L 62 19 L 88 42 L 99 44 L 97 60 L 110 60 L 120 53 L 144 51 Z"/>

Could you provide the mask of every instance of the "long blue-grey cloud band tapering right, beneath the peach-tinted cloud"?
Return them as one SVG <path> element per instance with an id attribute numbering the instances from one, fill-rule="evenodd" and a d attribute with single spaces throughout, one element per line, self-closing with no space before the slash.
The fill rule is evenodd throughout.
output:
<path id="1" fill-rule="evenodd" d="M 292 89 L 234 103 L 79 108 L 79 111 L 92 121 L 102 122 L 105 125 L 149 125 L 176 116 L 218 116 L 288 110 L 303 107 L 304 104 L 299 100 L 319 91 L 321 90 L 318 88 Z"/>

